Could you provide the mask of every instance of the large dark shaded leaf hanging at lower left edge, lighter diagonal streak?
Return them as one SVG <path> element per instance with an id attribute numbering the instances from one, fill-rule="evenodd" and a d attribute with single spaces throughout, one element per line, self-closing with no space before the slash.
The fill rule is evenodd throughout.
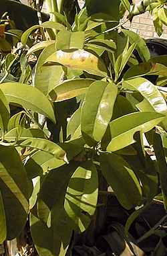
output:
<path id="1" fill-rule="evenodd" d="M 27 175 L 19 154 L 13 147 L 0 146 L 0 187 L 7 239 L 13 239 L 23 229 L 29 210 Z"/>

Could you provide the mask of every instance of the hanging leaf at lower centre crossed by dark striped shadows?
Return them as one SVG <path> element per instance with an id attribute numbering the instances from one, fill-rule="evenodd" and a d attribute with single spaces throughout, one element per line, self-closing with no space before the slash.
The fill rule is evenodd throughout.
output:
<path id="1" fill-rule="evenodd" d="M 69 181 L 64 208 L 81 232 L 90 224 L 98 201 L 98 173 L 92 161 L 82 163 Z"/>

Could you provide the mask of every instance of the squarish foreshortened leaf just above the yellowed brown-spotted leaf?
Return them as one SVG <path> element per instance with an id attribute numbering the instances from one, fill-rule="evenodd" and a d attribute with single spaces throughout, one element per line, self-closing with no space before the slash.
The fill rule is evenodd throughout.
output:
<path id="1" fill-rule="evenodd" d="M 60 31 L 56 37 L 56 50 L 83 49 L 84 32 Z"/>

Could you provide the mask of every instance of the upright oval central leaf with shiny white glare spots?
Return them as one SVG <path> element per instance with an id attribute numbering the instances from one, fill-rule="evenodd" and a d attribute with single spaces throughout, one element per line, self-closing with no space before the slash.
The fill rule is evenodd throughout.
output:
<path id="1" fill-rule="evenodd" d="M 114 83 L 96 81 L 90 85 L 81 108 L 81 132 L 89 146 L 102 140 L 112 118 L 117 93 Z"/>

